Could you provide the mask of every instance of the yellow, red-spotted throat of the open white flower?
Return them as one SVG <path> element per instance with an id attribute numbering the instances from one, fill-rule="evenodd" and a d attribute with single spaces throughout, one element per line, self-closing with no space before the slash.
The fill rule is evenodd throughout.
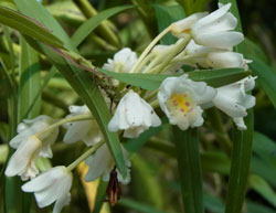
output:
<path id="1" fill-rule="evenodd" d="M 174 93 L 167 100 L 167 105 L 170 110 L 181 114 L 189 113 L 193 107 L 193 100 L 187 94 Z"/>

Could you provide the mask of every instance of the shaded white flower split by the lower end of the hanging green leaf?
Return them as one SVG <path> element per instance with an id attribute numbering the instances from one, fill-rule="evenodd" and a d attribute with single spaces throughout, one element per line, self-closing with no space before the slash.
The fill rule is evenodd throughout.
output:
<path id="1" fill-rule="evenodd" d="M 128 160 L 128 153 L 123 146 L 121 150 L 126 167 L 128 168 L 127 177 L 124 179 L 117 169 L 116 171 L 118 174 L 118 181 L 124 184 L 127 184 L 130 181 L 131 162 Z M 91 156 L 85 162 L 89 167 L 89 170 L 85 177 L 86 181 L 94 181 L 99 177 L 102 177 L 104 181 L 109 181 L 109 174 L 115 167 L 115 162 L 106 143 L 99 147 L 97 151 L 93 156 Z"/>

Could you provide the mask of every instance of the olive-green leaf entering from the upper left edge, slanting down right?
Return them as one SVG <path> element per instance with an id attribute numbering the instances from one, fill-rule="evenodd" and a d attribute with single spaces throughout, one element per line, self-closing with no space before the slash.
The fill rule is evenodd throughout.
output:
<path id="1" fill-rule="evenodd" d="M 46 44 L 62 47 L 62 42 L 49 29 L 38 21 L 11 9 L 0 7 L 0 23 Z"/>

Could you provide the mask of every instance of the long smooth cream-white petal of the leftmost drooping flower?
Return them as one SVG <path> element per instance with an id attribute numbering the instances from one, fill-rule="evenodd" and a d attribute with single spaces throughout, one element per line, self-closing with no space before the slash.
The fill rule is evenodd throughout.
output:
<path id="1" fill-rule="evenodd" d="M 22 142 L 17 151 L 12 155 L 4 174 L 13 177 L 24 173 L 31 161 L 35 158 L 35 152 L 41 148 L 42 142 L 36 137 L 30 137 L 25 142 Z"/>

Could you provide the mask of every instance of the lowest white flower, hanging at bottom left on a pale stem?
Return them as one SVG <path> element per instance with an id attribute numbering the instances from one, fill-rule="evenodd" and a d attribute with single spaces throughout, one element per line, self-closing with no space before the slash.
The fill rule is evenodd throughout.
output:
<path id="1" fill-rule="evenodd" d="M 39 207 L 53 202 L 53 213 L 60 213 L 71 200 L 70 190 L 73 177 L 66 167 L 54 167 L 22 185 L 24 192 L 33 192 Z"/>

